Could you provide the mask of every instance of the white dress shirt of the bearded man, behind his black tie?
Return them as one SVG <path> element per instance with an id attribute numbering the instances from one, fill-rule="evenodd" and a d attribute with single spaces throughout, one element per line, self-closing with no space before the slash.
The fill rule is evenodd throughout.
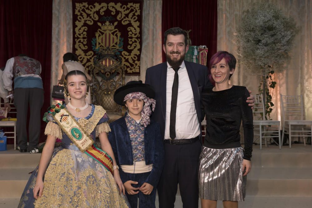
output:
<path id="1" fill-rule="evenodd" d="M 184 61 L 178 70 L 179 87 L 176 111 L 176 138 L 190 139 L 200 134 L 194 95 Z M 174 70 L 167 62 L 165 139 L 170 139 L 170 111 Z"/>

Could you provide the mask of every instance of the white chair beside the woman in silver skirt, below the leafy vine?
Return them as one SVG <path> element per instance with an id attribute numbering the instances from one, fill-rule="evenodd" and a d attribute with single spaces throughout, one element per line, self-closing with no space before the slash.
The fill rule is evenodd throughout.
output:
<path id="1" fill-rule="evenodd" d="M 259 115 L 259 120 L 256 120 L 254 116 L 253 125 L 259 126 L 259 134 L 254 132 L 254 135 L 259 135 L 260 138 L 260 150 L 262 149 L 262 138 L 264 138 L 265 145 L 267 143 L 266 138 L 277 138 L 278 137 L 278 144 L 281 148 L 281 141 L 280 141 L 280 121 L 275 120 L 266 120 L 265 117 L 265 108 L 264 108 L 264 100 L 263 95 L 255 95 L 255 106 L 254 106 L 254 115 Z M 278 126 L 277 129 L 269 128 L 269 126 L 276 125 Z M 257 128 L 255 128 L 257 129 Z M 274 141 L 274 140 L 273 140 Z M 274 141 L 275 142 L 275 141 Z M 266 145 L 267 146 L 267 145 Z"/>

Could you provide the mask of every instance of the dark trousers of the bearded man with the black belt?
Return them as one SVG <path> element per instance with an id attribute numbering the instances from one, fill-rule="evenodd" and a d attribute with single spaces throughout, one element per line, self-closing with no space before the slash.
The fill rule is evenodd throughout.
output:
<path id="1" fill-rule="evenodd" d="M 157 191 L 159 208 L 173 208 L 178 184 L 183 208 L 198 207 L 198 161 L 201 142 L 173 145 L 164 143 L 165 164 Z"/>

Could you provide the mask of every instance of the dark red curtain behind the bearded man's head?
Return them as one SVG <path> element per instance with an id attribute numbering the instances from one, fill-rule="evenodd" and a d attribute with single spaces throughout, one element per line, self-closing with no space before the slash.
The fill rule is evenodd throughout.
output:
<path id="1" fill-rule="evenodd" d="M 171 27 L 192 30 L 192 45 L 208 47 L 208 66 L 217 52 L 217 0 L 163 0 L 162 8 L 162 34 Z"/>

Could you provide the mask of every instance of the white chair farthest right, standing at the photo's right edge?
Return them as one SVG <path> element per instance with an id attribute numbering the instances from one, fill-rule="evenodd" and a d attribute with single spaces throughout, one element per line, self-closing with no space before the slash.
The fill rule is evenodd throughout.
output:
<path id="1" fill-rule="evenodd" d="M 303 137 L 303 141 L 305 144 L 305 137 L 308 137 L 312 133 L 312 121 L 304 120 L 304 109 L 303 109 L 303 99 L 302 95 L 282 95 L 280 94 L 280 105 L 282 110 L 282 118 L 283 118 L 283 133 L 282 139 L 284 138 L 284 134 L 289 134 L 289 148 L 291 148 L 291 137 Z M 305 126 L 308 125 L 310 128 L 305 130 Z M 299 130 L 291 129 L 291 126 L 299 126 Z M 301 127 L 301 128 L 300 128 Z M 289 132 L 285 132 L 285 129 L 288 129 Z M 298 134 L 294 134 L 298 133 Z M 302 133 L 300 135 L 300 133 Z M 310 133 L 310 135 L 308 135 Z"/>

